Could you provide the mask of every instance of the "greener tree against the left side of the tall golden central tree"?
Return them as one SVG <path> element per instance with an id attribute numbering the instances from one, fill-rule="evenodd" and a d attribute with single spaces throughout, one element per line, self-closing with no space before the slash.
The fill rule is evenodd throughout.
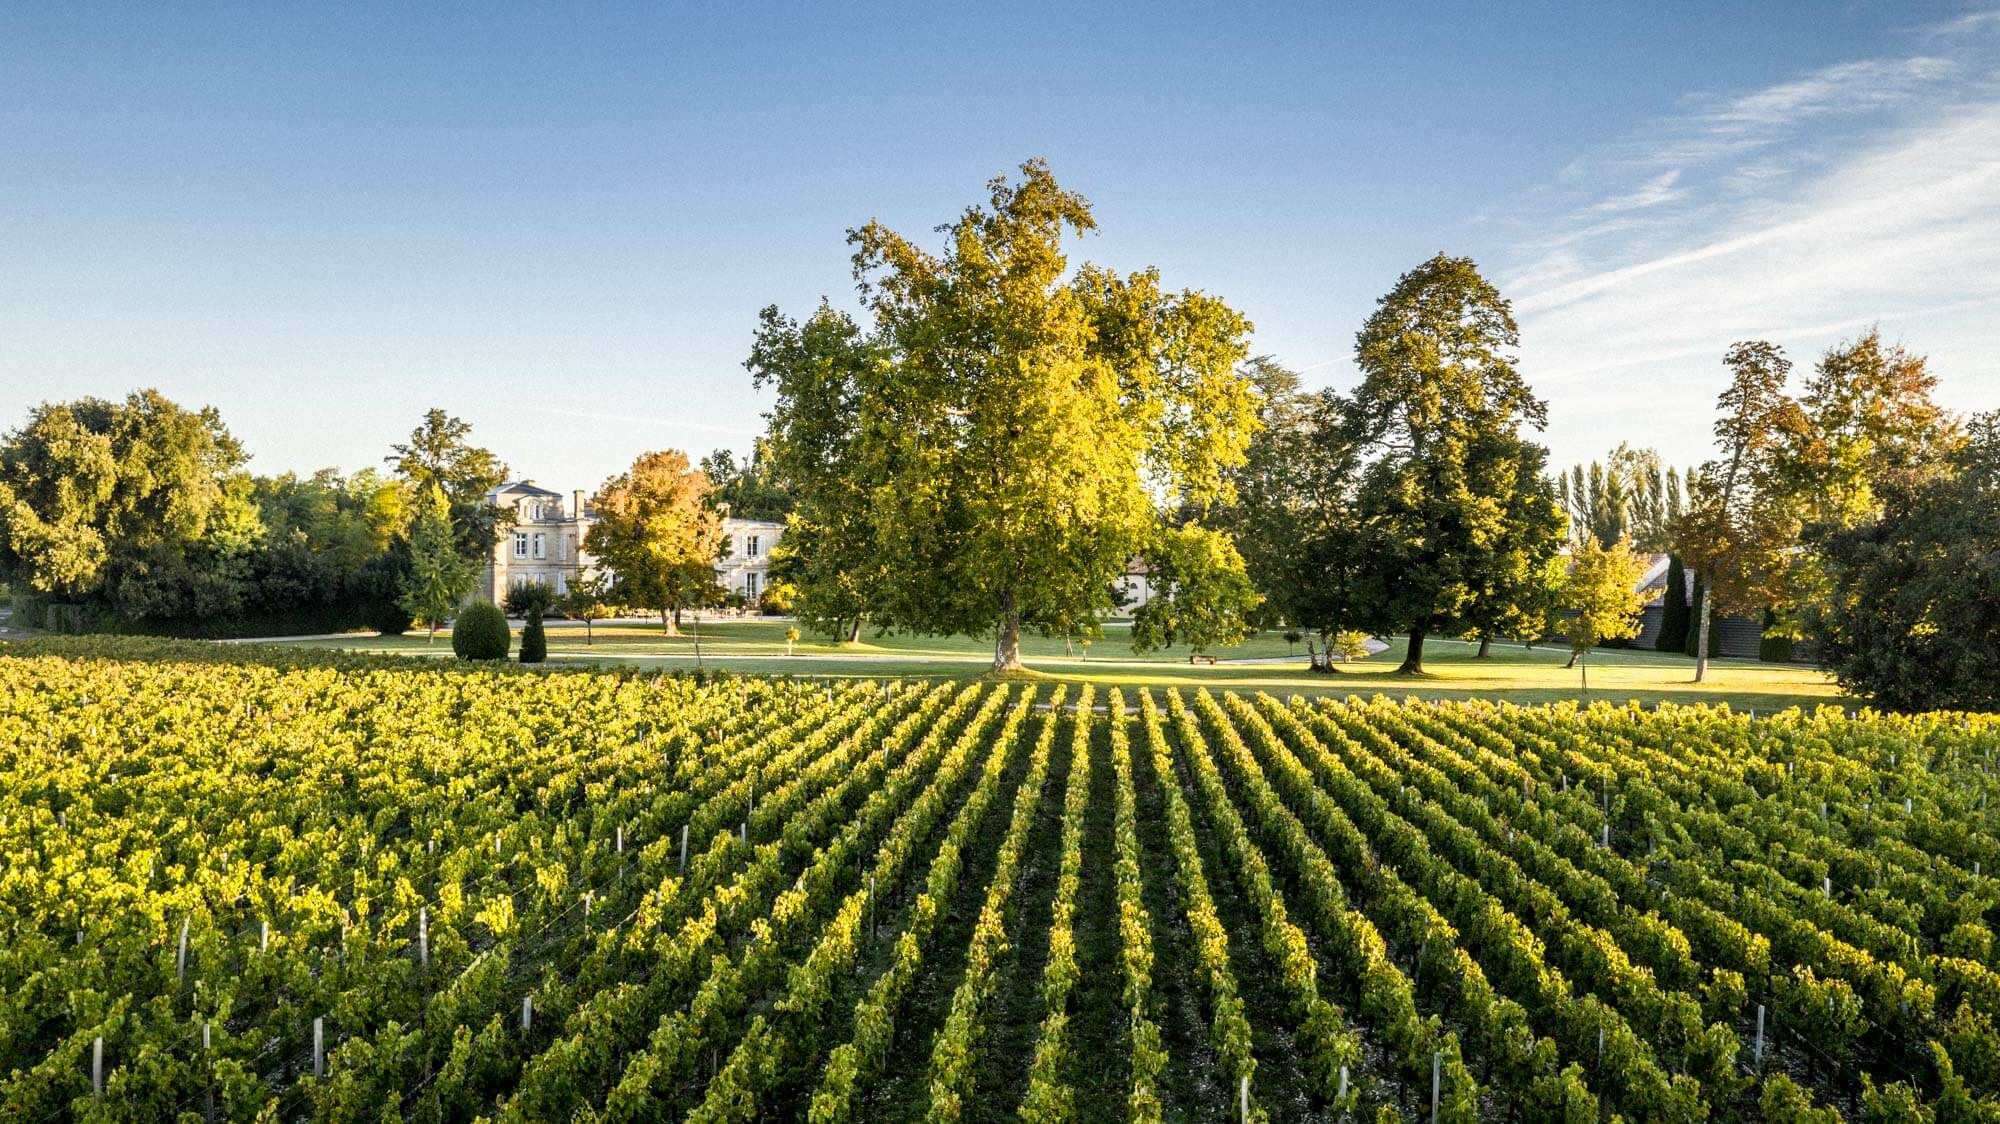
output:
<path id="1" fill-rule="evenodd" d="M 852 316 L 822 302 L 802 324 L 766 308 L 744 362 L 758 388 L 776 390 L 764 450 L 772 484 L 792 498 L 772 580 L 796 590 L 792 612 L 808 628 L 848 640 L 888 590 L 876 496 L 890 466 L 862 424 L 864 392 L 882 382 L 886 360 Z"/>

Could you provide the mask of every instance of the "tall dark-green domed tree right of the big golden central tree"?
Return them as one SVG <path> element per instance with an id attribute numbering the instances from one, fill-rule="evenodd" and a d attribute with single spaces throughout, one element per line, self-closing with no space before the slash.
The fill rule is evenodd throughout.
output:
<path id="1" fill-rule="evenodd" d="M 1500 292 L 1444 254 L 1404 274 L 1356 340 L 1348 428 L 1368 464 L 1354 604 L 1366 626 L 1410 634 L 1402 672 L 1422 672 L 1430 634 L 1500 616 L 1496 576 L 1540 574 L 1560 546 L 1546 454 L 1520 436 L 1546 408 L 1518 344 Z"/>

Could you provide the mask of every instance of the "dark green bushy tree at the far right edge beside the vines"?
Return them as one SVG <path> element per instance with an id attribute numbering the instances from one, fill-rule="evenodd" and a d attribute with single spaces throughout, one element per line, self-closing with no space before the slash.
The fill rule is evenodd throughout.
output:
<path id="1" fill-rule="evenodd" d="M 1884 482 L 1878 514 L 1824 538 L 1820 658 L 1894 710 L 2000 710 L 2000 414 L 1946 472 Z"/>

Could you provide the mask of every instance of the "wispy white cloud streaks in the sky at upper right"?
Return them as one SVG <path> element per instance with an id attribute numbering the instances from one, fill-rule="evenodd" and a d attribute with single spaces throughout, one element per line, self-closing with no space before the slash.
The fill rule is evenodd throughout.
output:
<path id="1" fill-rule="evenodd" d="M 1618 438 L 1700 456 L 1720 356 L 1750 336 L 1810 362 L 1882 324 L 1932 354 L 1948 402 L 2000 406 L 2000 10 L 1914 38 L 1690 96 L 1504 220 L 1558 460 Z"/>

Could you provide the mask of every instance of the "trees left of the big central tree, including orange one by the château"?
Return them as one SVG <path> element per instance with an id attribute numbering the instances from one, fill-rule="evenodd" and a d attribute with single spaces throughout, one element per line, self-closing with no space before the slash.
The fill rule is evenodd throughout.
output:
<path id="1" fill-rule="evenodd" d="M 214 408 L 156 390 L 38 406 L 0 440 L 0 580 L 20 624 L 254 636 L 374 628 L 436 632 L 508 530 L 490 502 L 508 468 L 472 426 L 430 410 L 384 468 L 258 476 Z M 562 596 L 510 590 L 520 616 L 602 618 L 716 604 L 720 516 L 784 518 L 788 496 L 752 454 L 700 470 L 648 452 L 592 498 L 586 548 L 604 572 Z M 616 574 L 616 586 L 610 580 Z"/>

